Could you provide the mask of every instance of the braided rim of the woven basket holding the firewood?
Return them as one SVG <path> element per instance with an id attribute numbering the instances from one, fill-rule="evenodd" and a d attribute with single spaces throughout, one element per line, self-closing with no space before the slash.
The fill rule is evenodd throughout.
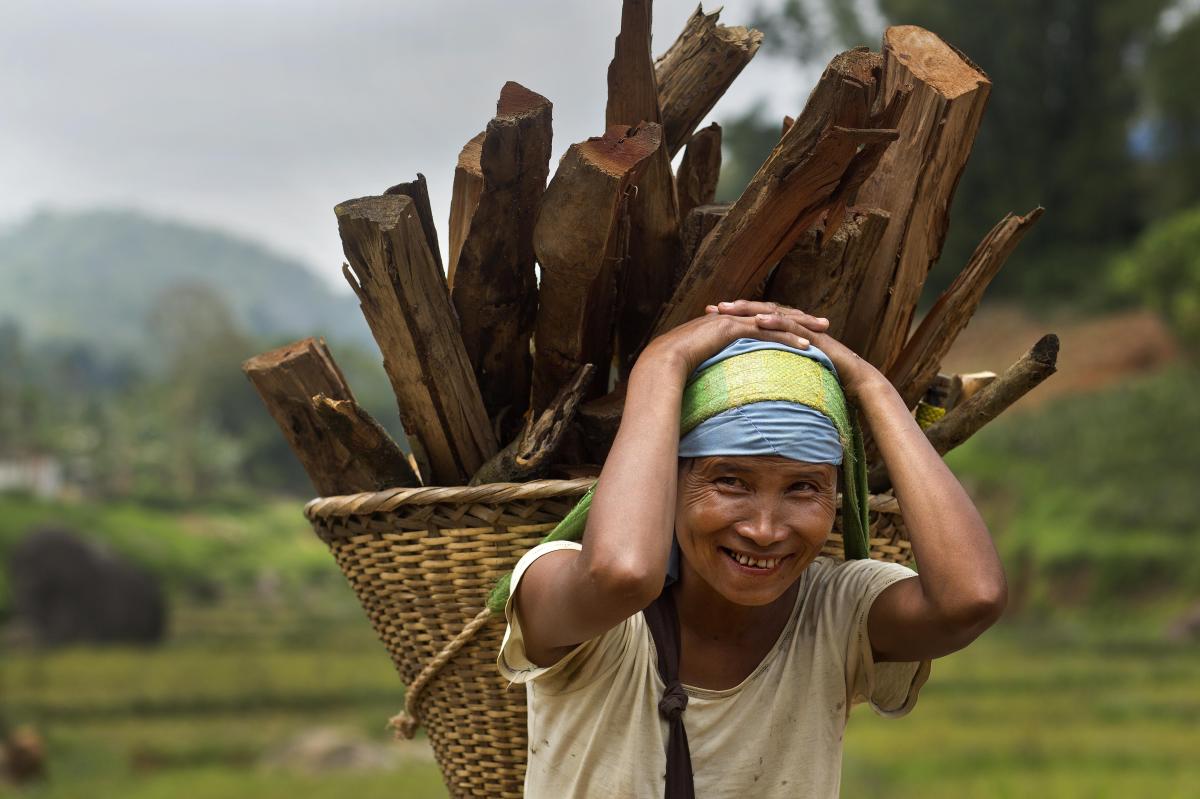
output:
<path id="1" fill-rule="evenodd" d="M 530 480 L 529 482 L 490 482 L 481 486 L 419 486 L 415 488 L 386 488 L 359 494 L 317 497 L 304 506 L 310 522 L 337 516 L 364 516 L 388 512 L 402 505 L 437 505 L 484 503 L 500 504 L 515 500 L 552 499 L 556 497 L 582 497 L 594 486 L 596 477 L 575 480 Z M 868 510 L 883 513 L 900 512 L 900 504 L 890 493 L 870 494 Z"/>

